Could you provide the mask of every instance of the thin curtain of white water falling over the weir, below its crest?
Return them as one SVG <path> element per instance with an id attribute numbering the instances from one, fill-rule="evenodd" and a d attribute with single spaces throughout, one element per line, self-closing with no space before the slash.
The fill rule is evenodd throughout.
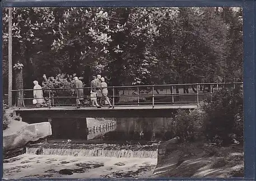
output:
<path id="1" fill-rule="evenodd" d="M 26 154 L 36 154 L 39 147 L 26 147 Z M 157 159 L 157 150 L 103 150 L 103 149 L 58 149 L 42 148 L 42 155 L 67 155 L 67 156 L 102 156 L 115 158 L 153 158 Z"/>

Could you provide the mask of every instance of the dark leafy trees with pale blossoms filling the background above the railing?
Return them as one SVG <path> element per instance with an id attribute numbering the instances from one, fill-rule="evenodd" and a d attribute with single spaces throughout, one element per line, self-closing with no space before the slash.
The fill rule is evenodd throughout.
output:
<path id="1" fill-rule="evenodd" d="M 24 88 L 43 74 L 76 73 L 90 86 L 243 81 L 242 9 L 13 8 L 13 64 Z M 3 88 L 8 92 L 8 9 L 3 9 Z M 13 70 L 16 78 L 18 71 Z M 13 82 L 15 82 L 13 80 Z"/>

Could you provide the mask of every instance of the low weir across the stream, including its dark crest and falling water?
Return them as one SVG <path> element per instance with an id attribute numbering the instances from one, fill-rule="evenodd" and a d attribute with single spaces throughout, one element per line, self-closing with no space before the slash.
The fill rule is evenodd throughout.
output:
<path id="1" fill-rule="evenodd" d="M 27 146 L 26 154 L 157 159 L 157 148 L 158 144 L 36 144 Z"/>

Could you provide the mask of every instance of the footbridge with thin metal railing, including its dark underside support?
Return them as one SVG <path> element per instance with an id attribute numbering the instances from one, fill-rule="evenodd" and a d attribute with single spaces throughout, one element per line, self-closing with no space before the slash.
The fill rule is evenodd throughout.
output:
<path id="1" fill-rule="evenodd" d="M 49 121 L 52 124 L 53 136 L 69 132 L 76 135 L 77 139 L 87 139 L 87 117 L 114 117 L 122 122 L 122 118 L 150 118 L 157 121 L 158 118 L 169 118 L 179 109 L 195 109 L 205 98 L 211 98 L 218 90 L 235 88 L 243 83 L 208 83 L 208 84 L 170 84 L 170 85 L 140 85 L 108 87 L 109 98 L 113 107 L 95 108 L 89 104 L 78 107 L 75 95 L 58 94 L 60 90 L 77 90 L 76 88 L 43 89 L 44 97 L 48 100 L 46 107 L 35 107 L 25 103 L 26 107 L 18 106 L 14 110 L 16 115 L 22 117 L 22 121 L 28 123 Z M 208 87 L 208 92 L 201 89 Z M 90 92 L 90 88 L 83 88 L 84 92 Z M 185 91 L 187 89 L 188 91 Z M 186 93 L 180 93 L 181 91 Z M 190 91 L 189 91 L 190 90 Z M 32 102 L 33 98 L 22 94 L 31 92 L 32 89 L 13 90 L 18 92 L 18 105 L 21 101 Z M 117 93 L 118 92 L 118 93 Z M 120 94 L 122 93 L 123 94 Z M 66 99 L 69 102 L 62 102 Z M 90 96 L 85 96 L 90 102 Z M 24 103 L 22 103 L 24 104 Z M 118 125 L 118 123 L 117 123 Z M 125 130 L 125 127 L 123 128 Z"/>

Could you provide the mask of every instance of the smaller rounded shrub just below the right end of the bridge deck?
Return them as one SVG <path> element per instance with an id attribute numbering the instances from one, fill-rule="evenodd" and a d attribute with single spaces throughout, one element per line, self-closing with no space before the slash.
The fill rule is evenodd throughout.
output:
<path id="1" fill-rule="evenodd" d="M 181 142 L 195 141 L 202 136 L 202 122 L 206 114 L 195 109 L 193 111 L 179 110 L 173 121 L 175 135 Z"/>

